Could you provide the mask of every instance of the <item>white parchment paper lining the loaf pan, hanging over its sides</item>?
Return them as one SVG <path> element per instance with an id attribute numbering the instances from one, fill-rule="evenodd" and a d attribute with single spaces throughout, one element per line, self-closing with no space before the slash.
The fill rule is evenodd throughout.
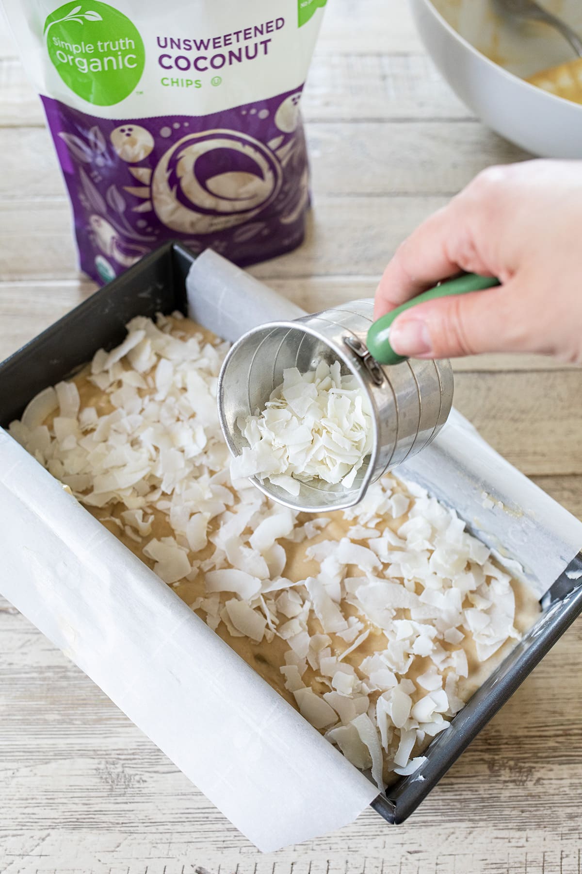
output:
<path id="1" fill-rule="evenodd" d="M 303 312 L 214 253 L 196 260 L 188 302 L 192 317 L 229 340 Z M 462 475 L 455 454 L 465 459 Z M 473 456 L 487 461 L 476 477 L 467 461 Z M 517 500 L 535 504 L 522 508 L 533 526 L 527 537 L 544 531 L 536 547 L 547 559 L 544 574 L 563 570 L 582 545 L 582 524 L 529 481 L 526 487 L 462 417 L 403 473 L 429 485 L 431 458 L 442 457 L 446 475 L 438 482 L 433 475 L 432 485 L 449 503 L 470 493 L 477 506 L 483 488 L 507 495 L 517 483 Z M 550 524 L 552 514 L 558 524 Z M 337 829 L 373 800 L 376 787 L 2 429 L 0 531 L 0 593 L 259 849 Z"/>

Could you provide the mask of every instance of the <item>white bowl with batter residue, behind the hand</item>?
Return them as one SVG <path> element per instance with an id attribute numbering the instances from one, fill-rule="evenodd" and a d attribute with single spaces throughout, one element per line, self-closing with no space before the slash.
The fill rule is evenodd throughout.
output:
<path id="1" fill-rule="evenodd" d="M 554 0 L 556 9 L 544 2 L 546 8 L 559 8 L 582 35 L 579 0 Z M 572 59 L 564 38 L 544 24 L 516 27 L 503 22 L 490 0 L 410 3 L 428 54 L 455 94 L 485 124 L 535 155 L 582 158 L 582 105 L 519 78 Z"/>

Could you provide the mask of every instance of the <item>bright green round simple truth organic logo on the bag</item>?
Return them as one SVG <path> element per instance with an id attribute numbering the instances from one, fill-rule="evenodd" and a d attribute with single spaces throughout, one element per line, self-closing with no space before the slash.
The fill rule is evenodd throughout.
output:
<path id="1" fill-rule="evenodd" d="M 146 52 L 129 18 L 108 3 L 65 3 L 45 21 L 46 47 L 58 75 L 83 100 L 113 106 L 132 93 Z"/>

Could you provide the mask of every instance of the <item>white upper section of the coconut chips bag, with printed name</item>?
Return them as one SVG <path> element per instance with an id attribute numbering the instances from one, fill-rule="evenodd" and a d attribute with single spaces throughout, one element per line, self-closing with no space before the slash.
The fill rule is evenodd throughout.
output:
<path id="1" fill-rule="evenodd" d="M 3 5 L 40 94 L 102 118 L 150 118 L 205 115 L 302 86 L 325 0 Z M 280 111 L 291 124 L 292 101 Z"/>

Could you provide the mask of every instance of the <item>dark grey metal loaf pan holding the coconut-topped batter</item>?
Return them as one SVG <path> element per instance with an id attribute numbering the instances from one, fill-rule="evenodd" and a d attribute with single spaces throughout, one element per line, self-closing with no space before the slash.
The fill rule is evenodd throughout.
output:
<path id="1" fill-rule="evenodd" d="M 112 349 L 134 316 L 186 313 L 186 277 L 195 256 L 168 242 L 0 364 L 0 426 L 17 419 L 35 394 L 70 376 L 100 348 Z M 462 516 L 462 512 L 460 513 Z M 469 530 L 471 520 L 465 519 Z M 582 543 L 580 544 L 582 546 Z M 397 780 L 372 807 L 390 823 L 404 822 L 441 780 L 537 663 L 582 613 L 582 554 L 547 581 L 543 612 L 515 649 L 428 747 L 419 771 Z"/>

